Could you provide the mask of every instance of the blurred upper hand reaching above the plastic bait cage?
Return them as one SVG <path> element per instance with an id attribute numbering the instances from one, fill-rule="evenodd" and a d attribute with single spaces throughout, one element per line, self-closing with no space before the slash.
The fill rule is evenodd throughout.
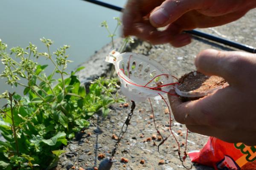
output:
<path id="1" fill-rule="evenodd" d="M 255 7 L 253 0 L 128 0 L 123 33 L 181 47 L 191 42 L 182 31 L 230 23 Z M 164 26 L 164 31 L 157 30 Z"/>

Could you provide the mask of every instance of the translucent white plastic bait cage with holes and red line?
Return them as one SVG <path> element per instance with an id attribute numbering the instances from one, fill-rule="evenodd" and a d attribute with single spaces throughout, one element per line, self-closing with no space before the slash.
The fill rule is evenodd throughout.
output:
<path id="1" fill-rule="evenodd" d="M 168 94 L 173 89 L 173 79 L 158 62 L 136 53 L 122 53 L 113 50 L 106 62 L 115 66 L 122 84 L 121 91 L 134 102 Z"/>

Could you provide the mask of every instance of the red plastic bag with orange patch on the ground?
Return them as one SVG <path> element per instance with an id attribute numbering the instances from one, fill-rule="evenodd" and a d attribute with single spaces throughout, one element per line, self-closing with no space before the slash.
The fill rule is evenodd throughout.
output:
<path id="1" fill-rule="evenodd" d="M 256 146 L 227 143 L 210 137 L 201 151 L 189 152 L 192 162 L 215 170 L 256 170 Z"/>

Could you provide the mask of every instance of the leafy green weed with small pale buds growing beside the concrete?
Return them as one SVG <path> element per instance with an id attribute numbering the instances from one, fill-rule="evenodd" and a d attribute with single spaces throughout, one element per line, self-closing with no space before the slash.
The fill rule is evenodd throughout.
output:
<path id="1" fill-rule="evenodd" d="M 0 109 L 0 132 L 6 139 L 0 141 L 0 169 L 50 169 L 64 152 L 61 147 L 89 125 L 90 116 L 99 111 L 105 116 L 109 105 L 124 102 L 117 93 L 113 95 L 118 86 L 116 79 L 96 79 L 86 94 L 76 76 L 83 68 L 65 72 L 71 62 L 66 54 L 69 46 L 51 53 L 52 41 L 43 38 L 41 42 L 47 52 L 40 53 L 29 43 L 26 49 L 11 48 L 8 54 L 7 45 L 0 40 L 0 58 L 5 65 L 0 77 L 9 85 L 24 88 L 24 96 L 9 92 L 0 95 L 7 100 Z M 34 61 L 38 57 L 51 61 L 51 74 L 44 73 L 48 65 Z"/>

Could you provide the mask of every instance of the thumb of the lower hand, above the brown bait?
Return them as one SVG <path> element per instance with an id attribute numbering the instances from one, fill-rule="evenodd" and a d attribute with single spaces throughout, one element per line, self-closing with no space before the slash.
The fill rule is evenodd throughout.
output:
<path id="1" fill-rule="evenodd" d="M 248 69 L 252 66 L 254 54 L 240 51 L 218 51 L 208 49 L 201 51 L 195 58 L 198 71 L 206 75 L 223 77 L 230 85 L 247 82 Z M 255 57 L 253 57 L 255 58 Z"/>

